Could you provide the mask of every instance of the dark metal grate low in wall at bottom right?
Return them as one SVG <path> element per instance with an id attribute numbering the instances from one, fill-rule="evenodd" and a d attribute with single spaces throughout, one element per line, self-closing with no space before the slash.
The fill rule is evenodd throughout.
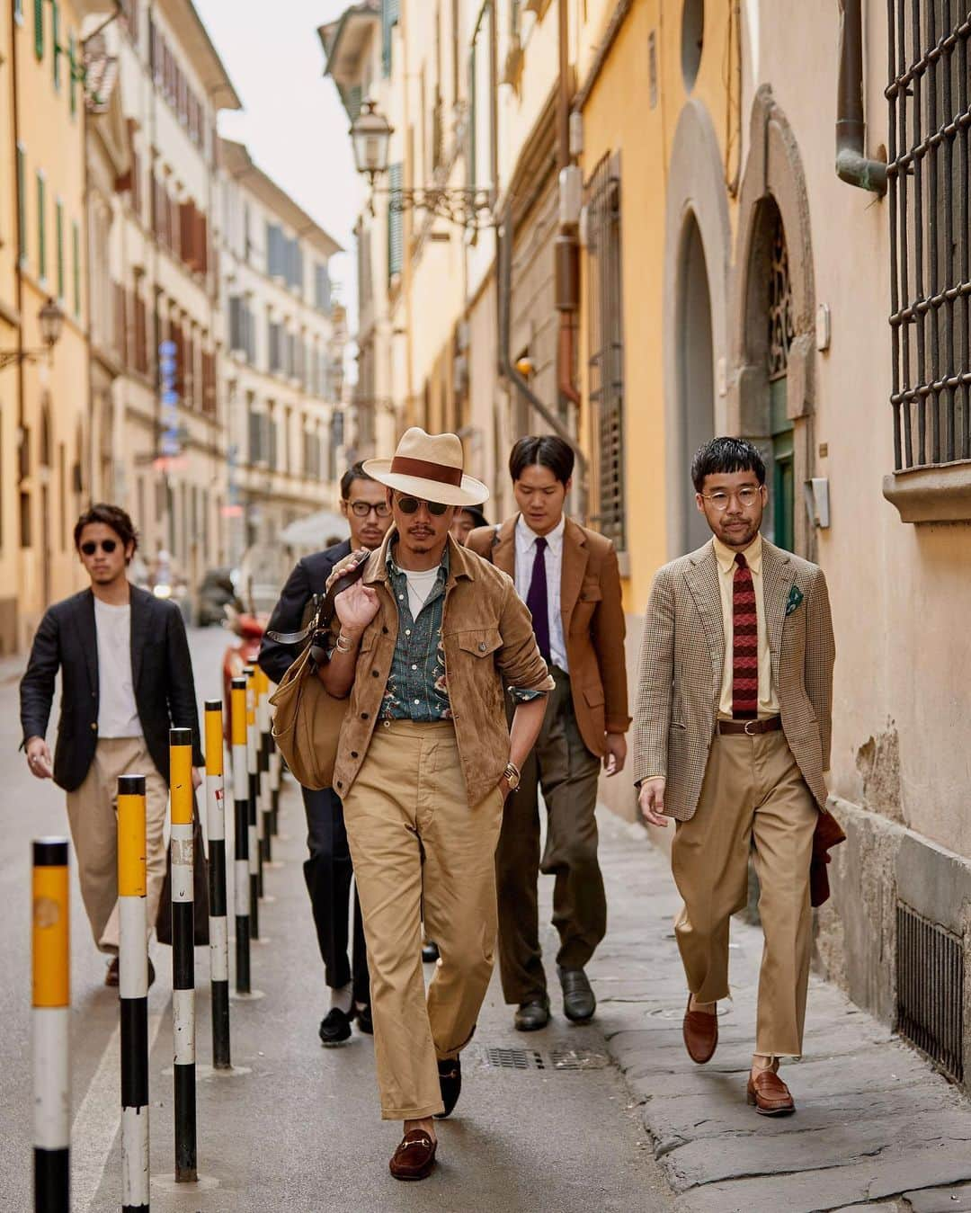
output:
<path id="1" fill-rule="evenodd" d="M 964 1078 L 964 947 L 958 935 L 897 902 L 897 1031 Z"/>

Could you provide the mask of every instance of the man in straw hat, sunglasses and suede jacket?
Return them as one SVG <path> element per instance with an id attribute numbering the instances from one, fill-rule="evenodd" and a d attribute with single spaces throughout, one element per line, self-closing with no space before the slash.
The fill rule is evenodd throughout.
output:
<path id="1" fill-rule="evenodd" d="M 364 912 L 381 1115 L 405 1122 L 390 1171 L 424 1179 L 492 973 L 503 804 L 553 679 L 512 580 L 449 535 L 458 509 L 489 499 L 463 473 L 459 439 L 412 428 L 365 471 L 394 523 L 377 552 L 352 558 L 366 565 L 337 597 L 320 677 L 350 697 L 333 788 Z M 441 953 L 427 1001 L 422 912 Z"/>

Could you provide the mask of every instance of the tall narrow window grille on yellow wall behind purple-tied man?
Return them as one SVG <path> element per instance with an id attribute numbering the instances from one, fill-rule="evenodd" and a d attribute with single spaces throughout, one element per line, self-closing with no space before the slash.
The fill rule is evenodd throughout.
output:
<path id="1" fill-rule="evenodd" d="M 621 165 L 606 155 L 587 183 L 587 325 L 594 466 L 593 520 L 627 547 L 624 525 L 624 347 L 621 280 Z"/>

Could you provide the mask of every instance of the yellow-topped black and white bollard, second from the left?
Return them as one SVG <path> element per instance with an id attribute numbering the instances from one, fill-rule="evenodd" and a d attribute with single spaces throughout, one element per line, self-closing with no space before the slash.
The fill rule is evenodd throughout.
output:
<path id="1" fill-rule="evenodd" d="M 141 1213 L 149 1203 L 145 893 L 145 776 L 122 775 L 118 781 L 122 1213 Z"/>

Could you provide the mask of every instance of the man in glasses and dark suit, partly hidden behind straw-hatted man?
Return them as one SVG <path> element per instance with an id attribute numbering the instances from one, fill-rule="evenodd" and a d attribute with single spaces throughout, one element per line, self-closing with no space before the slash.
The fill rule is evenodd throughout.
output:
<path id="1" fill-rule="evenodd" d="M 360 463 L 341 479 L 341 512 L 348 520 L 350 539 L 324 552 L 298 560 L 284 586 L 280 600 L 267 625 L 267 632 L 299 632 L 314 594 L 324 594 L 327 577 L 352 551 L 375 551 L 392 524 L 387 490 L 364 471 Z M 259 649 L 259 666 L 279 683 L 299 655 L 299 645 L 281 644 L 267 634 Z M 320 1040 L 326 1046 L 341 1044 L 350 1037 L 354 1019 L 361 1031 L 371 1031 L 371 993 L 367 951 L 364 941 L 361 910 L 354 896 L 354 968 L 348 961 L 348 918 L 353 867 L 344 830 L 344 810 L 331 788 L 303 788 L 307 813 L 307 848 L 303 876 L 316 927 L 325 980 L 331 1006 L 320 1023 Z"/>

